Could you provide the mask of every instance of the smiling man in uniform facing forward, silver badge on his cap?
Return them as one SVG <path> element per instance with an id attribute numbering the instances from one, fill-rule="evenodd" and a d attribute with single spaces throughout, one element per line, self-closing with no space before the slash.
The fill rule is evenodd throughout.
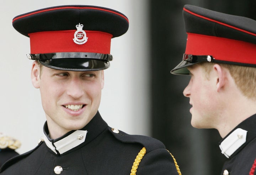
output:
<path id="1" fill-rule="evenodd" d="M 111 128 L 98 112 L 111 38 L 128 30 L 122 13 L 97 6 L 57 6 L 19 15 L 30 38 L 31 79 L 47 122 L 36 148 L 5 163 L 1 175 L 179 175 L 156 139 Z"/>

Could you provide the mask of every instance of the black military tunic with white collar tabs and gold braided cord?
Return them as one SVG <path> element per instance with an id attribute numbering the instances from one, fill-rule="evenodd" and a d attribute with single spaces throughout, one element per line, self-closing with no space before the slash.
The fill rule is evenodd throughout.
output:
<path id="1" fill-rule="evenodd" d="M 81 130 L 54 140 L 47 136 L 46 123 L 44 135 L 44 141 L 7 162 L 0 174 L 129 175 L 134 162 L 137 175 L 179 174 L 175 159 L 163 143 L 110 128 L 99 113 Z"/>

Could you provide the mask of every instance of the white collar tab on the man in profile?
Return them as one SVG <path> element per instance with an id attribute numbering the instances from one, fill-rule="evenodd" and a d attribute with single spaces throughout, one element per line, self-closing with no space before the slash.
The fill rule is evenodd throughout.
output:
<path id="1" fill-rule="evenodd" d="M 246 142 L 247 131 L 241 128 L 234 130 L 219 145 L 227 158 L 229 158 L 240 146 Z"/>

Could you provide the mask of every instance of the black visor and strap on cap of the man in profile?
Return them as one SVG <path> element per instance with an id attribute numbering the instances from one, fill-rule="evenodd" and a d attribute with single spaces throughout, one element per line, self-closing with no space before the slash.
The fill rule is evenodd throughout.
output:
<path id="1" fill-rule="evenodd" d="M 214 58 L 210 55 L 188 55 L 183 54 L 183 60 L 171 70 L 172 74 L 177 75 L 189 75 L 190 71 L 187 69 L 188 66 L 199 62 L 212 62 Z"/>

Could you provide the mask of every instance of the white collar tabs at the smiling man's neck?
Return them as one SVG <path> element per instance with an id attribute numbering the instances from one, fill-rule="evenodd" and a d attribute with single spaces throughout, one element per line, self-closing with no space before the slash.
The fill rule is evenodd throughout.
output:
<path id="1" fill-rule="evenodd" d="M 43 134 L 43 140 L 46 143 L 46 145 L 55 153 L 57 154 L 57 151 L 60 154 L 65 153 L 66 151 L 69 151 L 70 149 L 80 145 L 85 141 L 85 137 L 87 134 L 87 130 L 76 130 L 72 134 L 64 137 L 63 139 L 57 141 L 57 142 L 50 142 L 48 140 L 48 137 Z M 57 150 L 57 151 L 56 151 Z"/>

